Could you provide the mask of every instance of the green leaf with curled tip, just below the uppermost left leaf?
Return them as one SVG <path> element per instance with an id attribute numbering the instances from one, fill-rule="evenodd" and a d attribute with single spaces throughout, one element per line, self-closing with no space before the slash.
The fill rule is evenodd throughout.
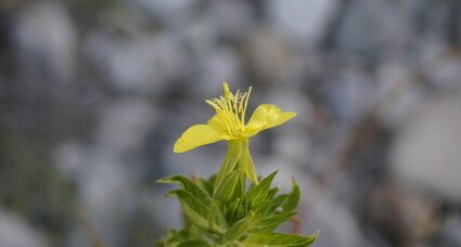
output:
<path id="1" fill-rule="evenodd" d="M 190 218 L 190 223 L 201 229 L 208 229 L 209 208 L 207 205 L 184 190 L 171 191 L 168 195 L 174 195 L 179 199 L 185 216 Z"/>

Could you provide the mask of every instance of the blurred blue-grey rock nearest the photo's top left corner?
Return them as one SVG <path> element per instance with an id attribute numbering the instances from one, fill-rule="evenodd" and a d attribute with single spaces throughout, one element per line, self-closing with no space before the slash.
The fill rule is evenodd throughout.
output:
<path id="1" fill-rule="evenodd" d="M 13 37 L 25 75 L 60 82 L 73 78 L 77 32 L 64 4 L 29 4 L 16 16 Z"/>

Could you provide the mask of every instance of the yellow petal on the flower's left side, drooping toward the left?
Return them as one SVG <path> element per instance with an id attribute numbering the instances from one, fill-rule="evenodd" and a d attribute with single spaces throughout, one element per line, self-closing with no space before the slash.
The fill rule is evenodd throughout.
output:
<path id="1" fill-rule="evenodd" d="M 195 125 L 190 127 L 176 141 L 174 152 L 182 153 L 209 143 L 221 141 L 222 138 L 207 125 Z"/>

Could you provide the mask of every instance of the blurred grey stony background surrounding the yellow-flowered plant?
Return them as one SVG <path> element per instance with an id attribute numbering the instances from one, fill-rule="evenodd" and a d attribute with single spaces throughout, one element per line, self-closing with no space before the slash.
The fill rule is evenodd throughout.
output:
<path id="1" fill-rule="evenodd" d="M 0 246 L 180 227 L 155 181 L 217 171 L 172 144 L 225 80 L 298 113 L 251 148 L 315 246 L 461 246 L 459 0 L 1 0 Z"/>

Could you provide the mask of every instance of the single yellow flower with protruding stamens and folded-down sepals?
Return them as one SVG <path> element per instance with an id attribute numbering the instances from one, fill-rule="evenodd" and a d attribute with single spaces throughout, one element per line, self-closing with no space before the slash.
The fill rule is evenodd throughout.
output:
<path id="1" fill-rule="evenodd" d="M 195 147 L 228 141 L 229 148 L 225 161 L 217 177 L 220 184 L 223 177 L 238 167 L 248 179 L 258 184 L 255 167 L 249 155 L 248 139 L 262 130 L 280 126 L 296 116 L 295 113 L 285 113 L 276 105 L 259 105 L 248 122 L 245 123 L 246 107 L 249 93 L 236 91 L 233 94 L 227 82 L 222 83 L 223 95 L 206 100 L 216 110 L 216 115 L 208 120 L 207 125 L 194 125 L 190 127 L 175 143 L 175 153 L 182 153 Z M 215 186 L 216 187 L 216 186 Z"/>

